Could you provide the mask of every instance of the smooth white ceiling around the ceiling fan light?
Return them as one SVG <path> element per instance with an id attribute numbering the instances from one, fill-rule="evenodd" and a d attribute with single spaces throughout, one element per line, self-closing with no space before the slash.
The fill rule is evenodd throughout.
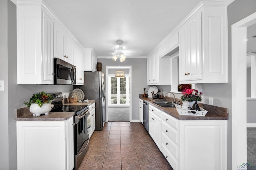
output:
<path id="1" fill-rule="evenodd" d="M 201 0 L 43 0 L 86 48 L 112 57 L 116 41 L 128 58 L 146 56 Z M 206 0 L 208 1 L 208 0 Z"/>

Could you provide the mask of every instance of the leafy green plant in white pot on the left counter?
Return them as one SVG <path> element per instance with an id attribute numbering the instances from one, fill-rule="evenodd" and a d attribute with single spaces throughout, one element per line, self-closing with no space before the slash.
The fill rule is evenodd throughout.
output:
<path id="1" fill-rule="evenodd" d="M 39 92 L 38 94 L 33 94 L 29 102 L 24 102 L 24 104 L 29 107 L 33 116 L 40 116 L 41 114 L 48 115 L 53 107 L 53 104 L 51 104 L 53 98 L 50 94 Z"/>

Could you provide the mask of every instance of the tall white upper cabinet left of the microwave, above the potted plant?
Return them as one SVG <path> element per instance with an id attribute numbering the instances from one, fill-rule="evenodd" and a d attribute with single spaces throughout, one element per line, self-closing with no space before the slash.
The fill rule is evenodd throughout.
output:
<path id="1" fill-rule="evenodd" d="M 17 6 L 17 84 L 53 84 L 52 25 L 41 6 Z"/>

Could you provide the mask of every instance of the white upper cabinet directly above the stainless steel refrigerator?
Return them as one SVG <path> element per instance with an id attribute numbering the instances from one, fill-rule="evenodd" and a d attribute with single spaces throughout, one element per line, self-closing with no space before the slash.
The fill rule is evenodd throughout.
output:
<path id="1" fill-rule="evenodd" d="M 84 71 L 97 71 L 97 55 L 92 48 L 84 49 Z"/>

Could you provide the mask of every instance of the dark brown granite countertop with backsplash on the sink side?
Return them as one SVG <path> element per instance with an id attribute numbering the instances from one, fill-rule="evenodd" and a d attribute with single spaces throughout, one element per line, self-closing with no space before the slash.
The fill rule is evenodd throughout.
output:
<path id="1" fill-rule="evenodd" d="M 218 106 L 199 103 L 198 105 L 200 107 L 208 111 L 205 116 L 180 115 L 176 110 L 176 107 L 158 106 L 157 104 L 153 103 L 155 101 L 154 99 L 143 98 L 142 95 L 140 95 L 139 98 L 179 120 L 228 120 L 228 109 L 224 107 L 218 107 Z"/>

